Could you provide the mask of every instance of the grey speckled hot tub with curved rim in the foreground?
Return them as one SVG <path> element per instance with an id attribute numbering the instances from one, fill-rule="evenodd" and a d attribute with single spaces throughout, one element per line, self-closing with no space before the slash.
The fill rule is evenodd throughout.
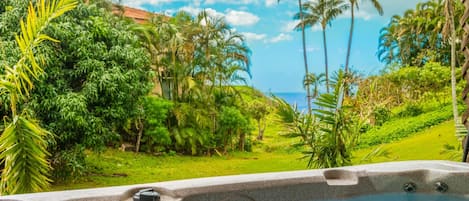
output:
<path id="1" fill-rule="evenodd" d="M 158 192 L 161 201 L 460 201 L 469 200 L 469 164 L 391 162 L 22 194 L 0 200 L 131 201 L 146 188 Z"/>

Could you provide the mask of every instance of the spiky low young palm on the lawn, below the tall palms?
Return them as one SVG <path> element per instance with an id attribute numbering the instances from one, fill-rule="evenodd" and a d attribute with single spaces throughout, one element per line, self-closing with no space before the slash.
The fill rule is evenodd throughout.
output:
<path id="1" fill-rule="evenodd" d="M 321 94 L 315 104 L 315 116 L 318 119 L 318 132 L 310 142 L 311 149 L 305 151 L 309 157 L 308 167 L 329 168 L 351 164 L 351 149 L 354 147 L 358 132 L 353 126 L 352 114 L 342 105 L 344 95 L 344 73 L 339 71 L 333 93 Z"/>

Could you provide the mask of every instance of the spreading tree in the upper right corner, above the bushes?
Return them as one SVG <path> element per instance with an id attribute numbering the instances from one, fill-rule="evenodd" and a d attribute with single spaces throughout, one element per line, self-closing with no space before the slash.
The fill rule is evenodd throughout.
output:
<path id="1" fill-rule="evenodd" d="M 460 19 L 464 6 L 454 2 L 454 18 Z M 415 9 L 407 10 L 402 16 L 395 15 L 387 27 L 380 31 L 378 58 L 387 64 L 423 66 L 428 62 L 450 64 L 450 45 L 442 37 L 446 18 L 445 4 L 439 0 L 418 3 Z M 459 20 L 455 21 L 459 23 Z M 455 27 L 460 27 L 455 24 Z M 457 38 L 462 29 L 457 29 Z M 459 47 L 458 47 L 459 48 Z M 458 63 L 462 61 L 462 55 Z"/>

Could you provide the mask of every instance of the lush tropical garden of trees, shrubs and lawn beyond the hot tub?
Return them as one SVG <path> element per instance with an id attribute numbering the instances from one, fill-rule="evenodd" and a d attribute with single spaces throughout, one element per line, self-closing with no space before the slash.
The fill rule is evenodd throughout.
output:
<path id="1" fill-rule="evenodd" d="M 304 32 L 320 23 L 324 31 L 325 74 L 308 73 L 305 65 L 301 80 L 311 100 L 306 112 L 240 86 L 251 76 L 251 51 L 223 18 L 178 12 L 138 24 L 106 0 L 50 2 L 69 5 L 58 6 L 53 21 L 27 20 L 27 26 L 40 26 L 32 34 L 16 25 L 34 16 L 28 9 L 33 4 L 0 1 L 0 112 L 6 119 L 0 127 L 1 194 L 44 191 L 50 183 L 62 190 L 454 160 L 460 149 L 459 122 L 448 120 L 461 107 L 452 94 L 462 86 L 451 82 L 458 77 L 449 67 L 461 56 L 442 37 L 448 17 L 438 13 L 449 5 L 441 1 L 391 19 L 378 49 L 387 66 L 367 77 L 348 68 L 358 1 L 300 1 L 297 28 Z M 379 2 L 371 2 L 381 14 Z M 459 18 L 462 5 L 454 7 Z M 347 9 L 352 24 L 345 70 L 329 74 L 325 30 Z M 421 26 L 425 17 L 434 21 Z M 16 37 L 39 33 L 41 43 L 32 45 Z M 32 153 L 16 149 L 21 146 Z M 20 160 L 26 157 L 32 159 Z"/>

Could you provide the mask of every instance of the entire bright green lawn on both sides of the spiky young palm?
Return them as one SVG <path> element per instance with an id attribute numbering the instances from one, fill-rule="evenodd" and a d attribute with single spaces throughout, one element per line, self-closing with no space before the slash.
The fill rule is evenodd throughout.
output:
<path id="1" fill-rule="evenodd" d="M 273 119 L 270 121 L 274 122 Z M 87 161 L 93 167 L 92 173 L 74 183 L 56 184 L 52 190 L 305 169 L 306 161 L 299 160 L 301 153 L 289 146 L 295 142 L 295 139 L 279 136 L 280 124 L 270 125 L 273 126 L 266 130 L 264 142 L 256 144 L 252 153 L 230 153 L 227 156 L 212 157 L 153 156 L 112 149 L 100 155 L 89 153 Z M 369 162 L 415 159 L 449 160 L 451 154 L 440 153 L 445 144 L 459 144 L 454 137 L 452 121 L 426 129 L 404 140 L 383 145 L 383 148 L 388 150 L 389 157 L 376 157 Z M 376 147 L 378 146 L 356 151 L 354 164 L 361 163 L 360 158 Z M 456 155 L 459 156 L 459 152 Z"/>

